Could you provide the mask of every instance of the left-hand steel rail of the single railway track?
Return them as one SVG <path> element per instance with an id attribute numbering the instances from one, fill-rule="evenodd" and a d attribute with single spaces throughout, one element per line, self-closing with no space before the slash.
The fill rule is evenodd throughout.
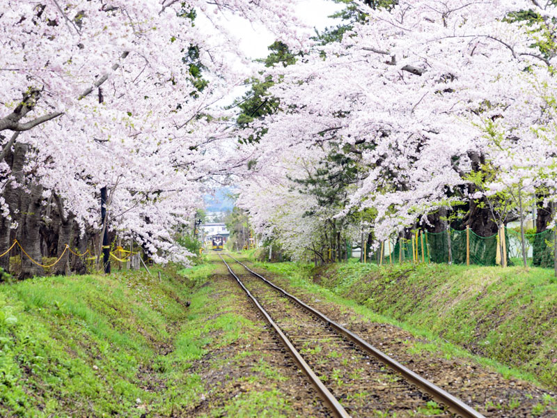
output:
<path id="1" fill-rule="evenodd" d="M 269 325 L 271 325 L 273 327 L 276 334 L 278 334 L 278 338 L 281 339 L 284 346 L 288 349 L 288 351 L 290 351 L 290 355 L 292 355 L 292 358 L 298 364 L 301 371 L 304 371 L 304 373 L 306 373 L 306 376 L 308 376 L 308 379 L 310 380 L 311 384 L 313 385 L 313 387 L 315 387 L 315 389 L 317 389 L 317 392 L 320 394 L 322 400 L 329 407 L 329 409 L 331 410 L 333 415 L 337 418 L 350 418 L 350 415 L 348 415 L 348 412 L 346 412 L 346 410 L 343 408 L 343 405 L 340 405 L 340 403 L 334 397 L 334 395 L 331 394 L 331 392 L 329 392 L 329 389 L 327 389 L 327 387 L 325 387 L 325 385 L 323 385 L 320 378 L 318 378 L 317 375 L 315 374 L 315 372 L 313 370 L 311 370 L 311 367 L 308 366 L 308 364 L 306 363 L 306 360 L 304 360 L 304 358 L 301 357 L 300 353 L 298 353 L 298 350 L 296 350 L 296 348 L 292 345 L 292 343 L 290 342 L 288 337 L 285 336 L 285 334 L 282 332 L 282 330 L 278 327 L 278 325 L 276 325 L 276 323 L 271 318 L 271 316 L 269 316 L 269 314 L 267 314 L 267 311 L 265 311 L 265 309 L 263 309 L 263 307 L 259 304 L 259 302 L 256 300 L 256 298 L 253 297 L 253 295 L 251 295 L 250 291 L 246 288 L 246 286 L 244 286 L 244 284 L 242 283 L 240 278 L 237 277 L 237 275 L 232 271 L 232 269 L 230 268 L 230 265 L 228 265 L 228 263 L 226 263 L 226 261 L 224 261 L 224 258 L 221 256 L 221 254 L 219 254 L 219 257 L 221 258 L 223 263 L 226 265 L 226 268 L 228 268 L 228 271 L 230 272 L 230 274 L 232 274 L 233 277 L 238 282 L 238 284 L 240 284 L 240 287 L 242 287 L 242 289 L 244 289 L 244 292 L 246 292 L 248 297 L 251 299 L 251 302 L 253 302 L 253 304 L 256 305 L 257 309 L 261 312 L 261 314 L 263 316 L 265 316 L 265 319 L 267 320 Z"/>

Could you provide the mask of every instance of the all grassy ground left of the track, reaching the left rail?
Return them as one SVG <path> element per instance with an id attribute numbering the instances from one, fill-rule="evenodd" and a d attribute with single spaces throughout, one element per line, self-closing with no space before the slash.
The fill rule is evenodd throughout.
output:
<path id="1" fill-rule="evenodd" d="M 0 417 L 311 416 L 285 401 L 267 331 L 207 258 L 0 284 Z"/>

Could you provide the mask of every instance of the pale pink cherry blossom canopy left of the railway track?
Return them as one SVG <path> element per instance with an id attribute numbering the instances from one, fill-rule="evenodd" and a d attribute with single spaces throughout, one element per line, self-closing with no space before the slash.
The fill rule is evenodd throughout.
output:
<path id="1" fill-rule="evenodd" d="M 58 249 L 72 229 L 98 231 L 107 187 L 111 228 L 155 261 L 185 261 L 172 231 L 200 206 L 205 150 L 226 137 L 214 104 L 246 77 L 223 20 L 301 47 L 293 3 L 1 0 L 0 253 L 11 235 L 40 259 L 45 211 L 71 224 Z M 41 272 L 23 259 L 22 277 Z"/>

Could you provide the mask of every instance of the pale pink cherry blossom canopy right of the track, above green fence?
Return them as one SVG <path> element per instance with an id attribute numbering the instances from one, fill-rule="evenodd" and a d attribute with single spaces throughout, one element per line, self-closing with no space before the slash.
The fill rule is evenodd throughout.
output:
<path id="1" fill-rule="evenodd" d="M 366 171 L 351 205 L 377 210 L 379 239 L 416 222 L 427 226 L 428 213 L 459 202 L 466 203 L 464 225 L 496 233 L 470 180 L 487 161 L 501 171 L 492 190 L 526 177 L 554 187 L 553 2 L 414 0 L 359 8 L 367 20 L 340 42 L 269 70 L 277 81 L 269 93 L 281 112 L 253 125 L 267 132 L 262 161 L 341 141 Z M 505 146 L 489 135 L 490 124 Z"/>

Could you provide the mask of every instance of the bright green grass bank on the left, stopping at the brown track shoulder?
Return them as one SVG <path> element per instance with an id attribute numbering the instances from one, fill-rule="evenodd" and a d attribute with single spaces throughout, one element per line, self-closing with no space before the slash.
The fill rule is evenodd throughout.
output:
<path id="1" fill-rule="evenodd" d="M 171 416 L 203 390 L 185 373 L 204 330 L 237 332 L 200 286 L 214 269 L 0 285 L 1 417 Z M 187 307 L 187 301 L 191 306 Z M 225 337 L 226 340 L 226 337 Z"/>

